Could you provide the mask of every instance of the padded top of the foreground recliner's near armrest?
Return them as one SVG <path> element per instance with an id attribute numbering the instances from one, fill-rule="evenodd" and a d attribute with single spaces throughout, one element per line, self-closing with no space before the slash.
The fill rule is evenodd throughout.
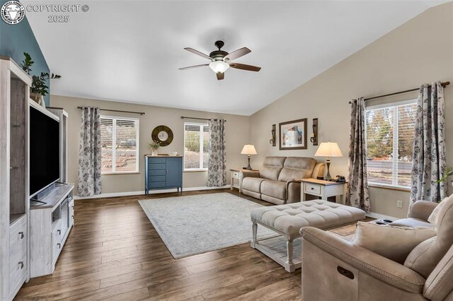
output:
<path id="1" fill-rule="evenodd" d="M 327 231 L 306 227 L 302 228 L 301 234 L 304 240 L 369 276 L 410 293 L 423 292 L 425 278 L 406 266 L 336 237 Z"/>

